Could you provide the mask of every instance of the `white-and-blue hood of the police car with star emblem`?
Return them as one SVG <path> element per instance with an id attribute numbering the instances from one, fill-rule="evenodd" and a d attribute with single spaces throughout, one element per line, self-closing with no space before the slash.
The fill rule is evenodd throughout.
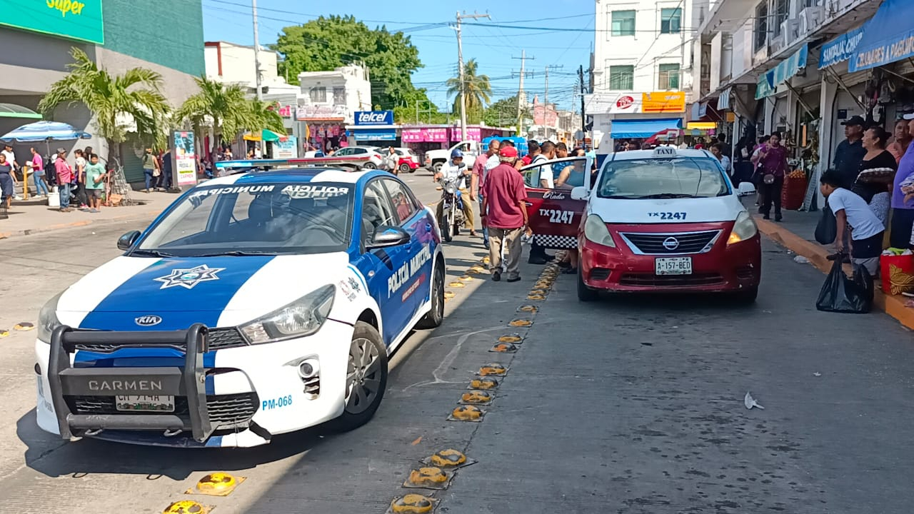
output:
<path id="1" fill-rule="evenodd" d="M 83 277 L 58 301 L 70 327 L 142 330 L 136 319 L 154 316 L 153 330 L 194 323 L 225 327 L 287 305 L 335 284 L 348 263 L 344 252 L 312 255 L 117 257 Z"/>

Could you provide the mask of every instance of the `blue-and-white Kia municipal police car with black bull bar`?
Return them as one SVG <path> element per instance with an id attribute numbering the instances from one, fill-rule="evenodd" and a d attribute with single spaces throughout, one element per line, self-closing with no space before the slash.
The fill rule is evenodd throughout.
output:
<path id="1" fill-rule="evenodd" d="M 68 440 L 175 446 L 367 423 L 388 355 L 413 327 L 441 325 L 440 241 L 434 214 L 388 173 L 209 180 L 41 309 L 37 423 Z"/>

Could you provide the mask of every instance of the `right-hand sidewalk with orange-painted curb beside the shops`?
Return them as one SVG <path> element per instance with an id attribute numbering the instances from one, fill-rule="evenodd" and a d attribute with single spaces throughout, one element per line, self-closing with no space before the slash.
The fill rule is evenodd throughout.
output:
<path id="1" fill-rule="evenodd" d="M 775 222 L 771 220 L 762 220 L 757 214 L 758 208 L 753 207 L 749 201 L 746 208 L 753 213 L 755 222 L 759 225 L 761 233 L 768 236 L 772 241 L 781 246 L 809 259 L 810 263 L 823 273 L 828 273 L 832 269 L 832 262 L 827 259 L 828 255 L 834 253 L 833 247 L 826 247 L 815 241 L 815 226 L 822 216 L 822 211 L 800 212 L 795 210 L 785 210 L 784 220 Z M 849 266 L 845 266 L 849 271 Z M 873 304 L 898 320 L 901 325 L 914 329 L 914 308 L 906 307 L 907 298 L 901 295 L 885 294 L 882 292 L 881 281 L 876 281 L 876 297 Z"/>

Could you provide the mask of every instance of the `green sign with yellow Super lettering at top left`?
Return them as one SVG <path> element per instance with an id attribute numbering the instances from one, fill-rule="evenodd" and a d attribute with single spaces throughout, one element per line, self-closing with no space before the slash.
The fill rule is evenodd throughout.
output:
<path id="1" fill-rule="evenodd" d="M 104 44 L 101 0 L 15 0 L 0 2 L 0 26 Z"/>

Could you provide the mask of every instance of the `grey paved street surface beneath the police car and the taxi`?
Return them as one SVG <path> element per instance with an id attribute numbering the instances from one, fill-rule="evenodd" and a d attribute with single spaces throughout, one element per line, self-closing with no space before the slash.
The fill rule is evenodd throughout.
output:
<path id="1" fill-rule="evenodd" d="M 411 178 L 423 201 L 437 198 L 427 175 Z M 0 241 L 0 323 L 34 321 L 132 228 Z M 380 513 L 409 492 L 421 458 L 449 447 L 478 462 L 432 495 L 441 513 L 909 512 L 909 332 L 881 314 L 816 312 L 824 275 L 765 250 L 751 307 L 629 295 L 584 305 L 567 275 L 532 302 L 542 268 L 525 265 L 518 284 L 480 277 L 453 289 L 441 328 L 399 349 L 371 423 L 250 450 L 63 444 L 35 425 L 34 333 L 15 332 L 0 339 L 0 513 L 153 513 L 186 498 L 216 514 Z M 446 252 L 453 277 L 484 255 L 465 236 Z M 537 314 L 516 312 L 530 304 Z M 516 317 L 534 325 L 508 327 Z M 526 337 L 516 354 L 488 351 L 515 332 Z M 483 422 L 447 421 L 489 361 L 509 371 Z M 747 391 L 764 410 L 743 406 Z M 184 494 L 210 471 L 246 480 L 227 498 Z"/>

